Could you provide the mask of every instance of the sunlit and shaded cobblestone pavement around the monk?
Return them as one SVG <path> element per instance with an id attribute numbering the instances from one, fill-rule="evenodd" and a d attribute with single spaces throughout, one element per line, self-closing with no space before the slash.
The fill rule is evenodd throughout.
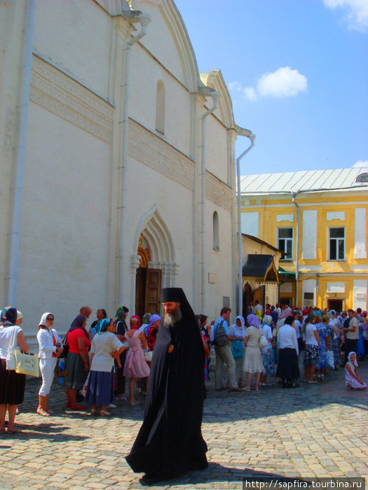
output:
<path id="1" fill-rule="evenodd" d="M 360 367 L 368 381 L 368 360 Z M 209 468 L 161 489 L 241 489 L 242 477 L 368 476 L 367 391 L 346 391 L 343 370 L 296 389 L 215 392 L 205 400 L 203 436 Z M 0 435 L 1 489 L 140 488 L 123 455 L 142 422 L 143 405 L 117 402 L 109 419 L 68 412 L 53 385 L 55 415 L 35 413 L 40 379 L 27 381 L 16 421 L 22 433 Z M 138 395 L 139 399 L 139 395 Z M 143 398 L 140 398 L 144 402 Z"/>

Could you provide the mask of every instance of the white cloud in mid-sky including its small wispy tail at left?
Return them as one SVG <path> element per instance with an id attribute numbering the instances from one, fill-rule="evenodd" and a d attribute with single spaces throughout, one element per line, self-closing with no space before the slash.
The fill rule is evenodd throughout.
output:
<path id="1" fill-rule="evenodd" d="M 273 73 L 264 73 L 259 78 L 257 87 L 243 87 L 240 82 L 229 83 L 229 90 L 242 94 L 246 99 L 254 102 L 259 97 L 294 97 L 308 88 L 306 76 L 290 66 L 283 66 Z"/>

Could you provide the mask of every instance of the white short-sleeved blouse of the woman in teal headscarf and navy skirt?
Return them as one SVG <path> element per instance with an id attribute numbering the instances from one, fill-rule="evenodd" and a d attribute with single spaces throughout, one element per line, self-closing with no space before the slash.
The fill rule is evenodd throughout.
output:
<path id="1" fill-rule="evenodd" d="M 93 337 L 90 353 L 93 354 L 91 371 L 111 372 L 114 358 L 111 353 L 118 351 L 123 344 L 112 332 L 101 332 Z"/>

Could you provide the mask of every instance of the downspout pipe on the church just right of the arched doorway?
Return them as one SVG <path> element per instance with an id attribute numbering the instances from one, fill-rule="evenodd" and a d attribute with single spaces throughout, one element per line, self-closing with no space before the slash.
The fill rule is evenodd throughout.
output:
<path id="1" fill-rule="evenodd" d="M 210 92 L 213 105 L 202 114 L 200 147 L 200 312 L 205 314 L 205 120 L 217 108 L 219 92 Z"/>

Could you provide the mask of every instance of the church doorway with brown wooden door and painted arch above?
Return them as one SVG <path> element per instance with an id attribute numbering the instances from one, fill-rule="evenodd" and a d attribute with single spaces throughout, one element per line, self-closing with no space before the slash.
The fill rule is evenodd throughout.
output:
<path id="1" fill-rule="evenodd" d="M 161 269 L 149 268 L 151 251 L 144 236 L 139 237 L 139 268 L 135 280 L 135 314 L 142 318 L 146 311 L 159 314 L 161 308 Z"/>

